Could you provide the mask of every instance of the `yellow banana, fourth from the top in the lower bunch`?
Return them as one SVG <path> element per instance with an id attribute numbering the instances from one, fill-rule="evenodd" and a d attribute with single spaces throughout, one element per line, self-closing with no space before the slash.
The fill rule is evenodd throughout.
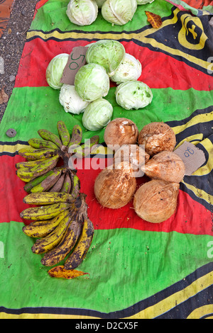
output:
<path id="1" fill-rule="evenodd" d="M 70 219 L 70 214 L 66 215 L 65 218 L 60 221 L 58 227 L 53 230 L 53 232 L 44 238 L 37 239 L 31 248 L 33 253 L 43 254 L 56 247 L 60 243 L 62 237 L 65 235 L 67 227 L 70 223 Z"/>

